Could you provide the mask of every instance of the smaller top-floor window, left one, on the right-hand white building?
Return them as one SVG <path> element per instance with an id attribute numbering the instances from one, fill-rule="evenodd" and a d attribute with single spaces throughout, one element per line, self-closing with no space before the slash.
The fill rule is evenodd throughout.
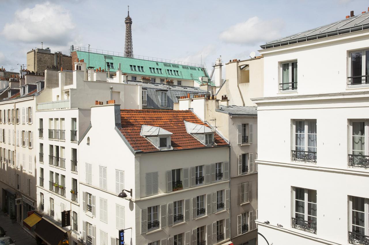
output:
<path id="1" fill-rule="evenodd" d="M 297 89 L 297 61 L 282 63 L 282 78 L 279 90 L 296 90 Z"/>

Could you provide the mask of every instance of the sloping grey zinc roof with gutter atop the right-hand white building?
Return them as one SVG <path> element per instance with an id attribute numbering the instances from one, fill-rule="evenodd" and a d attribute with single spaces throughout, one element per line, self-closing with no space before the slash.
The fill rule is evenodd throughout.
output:
<path id="1" fill-rule="evenodd" d="M 293 35 L 279 38 L 265 45 L 261 45 L 262 49 L 268 49 L 278 46 L 289 45 L 292 43 L 306 42 L 318 38 L 335 36 L 354 31 L 361 31 L 369 28 L 369 12 L 353 16 L 344 20 L 336 21 L 328 25 L 313 28 L 307 31 L 299 32 Z"/>

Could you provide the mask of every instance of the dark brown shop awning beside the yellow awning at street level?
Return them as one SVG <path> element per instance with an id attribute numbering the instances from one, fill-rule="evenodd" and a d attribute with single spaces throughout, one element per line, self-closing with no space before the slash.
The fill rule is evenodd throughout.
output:
<path id="1" fill-rule="evenodd" d="M 48 245 L 58 245 L 64 237 L 68 237 L 65 230 L 45 217 L 37 223 L 35 233 Z"/>

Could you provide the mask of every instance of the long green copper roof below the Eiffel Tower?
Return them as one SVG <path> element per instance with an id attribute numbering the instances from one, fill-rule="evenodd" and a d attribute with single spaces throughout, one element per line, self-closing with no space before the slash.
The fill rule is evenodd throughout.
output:
<path id="1" fill-rule="evenodd" d="M 140 76 L 175 78 L 178 80 L 180 79 L 195 80 L 199 84 L 200 84 L 199 77 L 209 77 L 206 70 L 202 69 L 201 67 L 183 66 L 180 64 L 171 64 L 171 63 L 156 62 L 156 61 L 150 61 L 150 60 L 141 60 L 141 59 L 127 58 L 127 57 L 113 56 L 113 55 L 104 55 L 100 53 L 91 53 L 91 52 L 90 52 L 90 64 L 88 64 L 89 63 L 89 53 L 88 52 L 78 51 L 78 50 L 73 51 L 73 52 L 77 53 L 78 59 L 84 59 L 85 62 L 87 63 L 87 66 L 93 66 L 94 69 L 97 69 L 99 67 L 105 70 L 108 69 L 108 66 L 106 64 L 106 62 L 108 62 L 108 63 L 113 63 L 114 68 L 110 67 L 110 71 L 113 71 L 113 72 L 115 72 L 118 69 L 118 66 L 120 63 L 121 70 L 123 73 L 137 74 Z M 141 67 L 144 68 L 143 71 L 141 70 Z M 153 68 L 155 69 L 155 73 L 152 72 Z M 132 71 L 131 69 L 134 69 L 134 70 Z"/>

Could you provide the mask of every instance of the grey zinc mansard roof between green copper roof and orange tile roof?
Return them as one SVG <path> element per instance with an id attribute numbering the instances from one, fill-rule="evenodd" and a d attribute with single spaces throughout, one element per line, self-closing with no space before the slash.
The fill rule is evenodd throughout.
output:
<path id="1" fill-rule="evenodd" d="M 143 108 L 156 109 L 173 109 L 173 104 L 178 102 L 178 97 L 190 94 L 192 98 L 194 94 L 210 94 L 210 92 L 201 90 L 196 87 L 166 85 L 163 83 L 141 83 L 137 81 L 128 81 L 128 84 L 142 84 L 142 89 L 147 91 L 147 102 Z M 167 106 L 161 106 L 159 96 L 161 91 L 167 91 Z"/>

